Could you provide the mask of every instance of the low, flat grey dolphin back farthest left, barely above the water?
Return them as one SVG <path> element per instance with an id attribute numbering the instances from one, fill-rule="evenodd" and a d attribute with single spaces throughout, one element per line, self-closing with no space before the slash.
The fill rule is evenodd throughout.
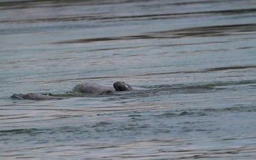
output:
<path id="1" fill-rule="evenodd" d="M 44 95 L 43 93 L 26 93 L 26 94 L 13 94 L 12 99 L 31 99 L 31 100 L 60 100 L 65 97 L 54 97 L 51 95 Z"/>

